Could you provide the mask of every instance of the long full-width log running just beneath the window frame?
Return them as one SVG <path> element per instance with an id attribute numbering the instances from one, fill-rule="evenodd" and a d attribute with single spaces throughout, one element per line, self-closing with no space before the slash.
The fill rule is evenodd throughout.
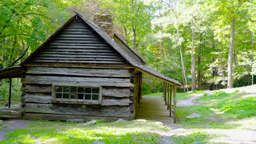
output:
<path id="1" fill-rule="evenodd" d="M 129 118 L 129 106 L 96 106 L 96 105 L 60 105 L 60 104 L 31 104 L 24 107 L 29 113 L 51 113 L 63 115 L 126 117 Z"/>

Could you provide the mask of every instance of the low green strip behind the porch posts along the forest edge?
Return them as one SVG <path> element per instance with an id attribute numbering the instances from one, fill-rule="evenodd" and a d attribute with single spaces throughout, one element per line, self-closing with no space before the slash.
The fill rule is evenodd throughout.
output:
<path id="1" fill-rule="evenodd" d="M 193 91 L 193 92 L 187 92 L 187 93 L 177 93 L 177 100 L 184 100 L 188 99 L 193 96 L 195 93 L 202 93 L 203 91 Z M 152 93 L 152 94 L 147 94 L 143 95 L 143 97 L 159 97 L 162 98 L 162 93 Z"/>

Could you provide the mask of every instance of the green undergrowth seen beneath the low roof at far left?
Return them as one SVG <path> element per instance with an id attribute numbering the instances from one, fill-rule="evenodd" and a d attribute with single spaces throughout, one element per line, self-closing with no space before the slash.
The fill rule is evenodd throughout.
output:
<path id="1" fill-rule="evenodd" d="M 9 98 L 9 82 L 2 80 L 0 82 L 0 109 L 6 107 Z M 21 83 L 20 79 L 12 79 L 11 105 L 20 104 Z"/>

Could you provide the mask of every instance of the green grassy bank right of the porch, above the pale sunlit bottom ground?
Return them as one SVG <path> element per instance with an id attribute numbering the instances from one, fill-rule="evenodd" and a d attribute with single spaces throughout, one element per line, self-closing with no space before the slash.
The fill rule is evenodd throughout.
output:
<path id="1" fill-rule="evenodd" d="M 246 95 L 245 93 L 237 96 L 237 92 L 217 91 L 196 99 L 197 103 L 203 101 L 202 105 L 178 106 L 178 122 L 188 127 L 232 129 L 241 126 L 229 122 L 255 117 L 256 95 Z M 185 118 L 191 113 L 197 113 L 202 117 Z"/>

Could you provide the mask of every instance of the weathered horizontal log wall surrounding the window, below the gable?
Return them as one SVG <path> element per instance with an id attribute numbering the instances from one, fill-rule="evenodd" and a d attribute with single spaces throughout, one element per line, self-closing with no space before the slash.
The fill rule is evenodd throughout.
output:
<path id="1" fill-rule="evenodd" d="M 133 69 L 134 71 L 134 69 Z M 26 118 L 60 119 L 133 118 L 133 93 L 137 91 L 131 69 L 28 67 L 21 79 L 22 107 Z M 52 86 L 102 87 L 100 105 L 53 103 Z M 136 89 L 136 90 L 135 90 Z M 70 117 L 68 117 L 70 116 Z"/>

